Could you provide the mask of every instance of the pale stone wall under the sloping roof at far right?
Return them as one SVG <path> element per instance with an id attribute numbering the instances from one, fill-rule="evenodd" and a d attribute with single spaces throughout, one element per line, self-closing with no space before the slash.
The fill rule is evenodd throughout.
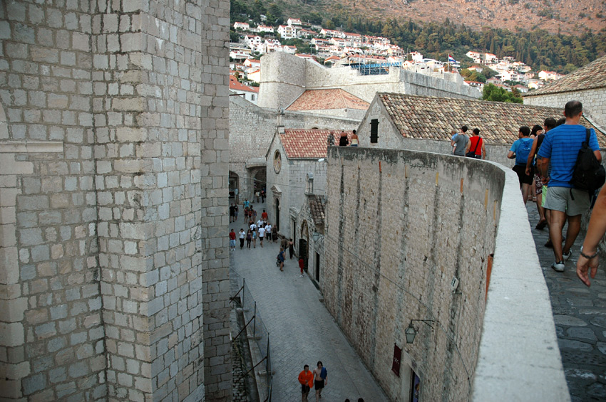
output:
<path id="1" fill-rule="evenodd" d="M 559 92 L 545 95 L 531 95 L 524 97 L 525 105 L 560 107 L 570 100 L 578 100 L 583 104 L 583 110 L 597 125 L 606 128 L 606 90 L 593 88 L 590 90 L 577 90 L 574 92 Z"/>

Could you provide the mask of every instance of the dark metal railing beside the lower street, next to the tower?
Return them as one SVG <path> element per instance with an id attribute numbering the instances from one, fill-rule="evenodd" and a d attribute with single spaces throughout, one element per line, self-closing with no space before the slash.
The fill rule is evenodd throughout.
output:
<path id="1" fill-rule="evenodd" d="M 252 368 L 245 374 L 242 374 L 242 377 L 248 376 L 251 372 L 255 371 L 257 388 L 260 388 L 260 398 L 266 396 L 263 401 L 271 402 L 273 371 L 272 355 L 269 347 L 269 332 L 260 313 L 257 311 L 257 302 L 252 298 L 245 279 L 236 273 L 233 268 L 230 269 L 230 293 L 233 295 L 230 297 L 230 302 L 234 302 L 237 308 L 242 309 L 242 316 L 245 322 L 244 327 L 232 339 L 232 342 L 235 342 L 238 337 L 247 337 L 251 349 L 256 347 L 259 351 L 256 354 L 251 350 Z M 265 371 L 260 370 L 260 368 L 264 368 Z M 260 379 L 261 381 L 259 381 Z"/>

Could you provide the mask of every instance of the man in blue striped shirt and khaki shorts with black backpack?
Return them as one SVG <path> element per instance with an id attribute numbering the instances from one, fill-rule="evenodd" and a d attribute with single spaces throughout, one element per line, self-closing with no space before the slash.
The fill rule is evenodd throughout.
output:
<path id="1" fill-rule="evenodd" d="M 585 142 L 585 127 L 580 125 L 582 105 L 578 100 L 571 100 L 564 107 L 566 122 L 551 129 L 543 144 L 541 144 L 538 157 L 543 158 L 541 176 L 545 177 L 548 191 L 545 208 L 551 210 L 549 221 L 549 234 L 553 242 L 555 263 L 551 268 L 558 272 L 564 271 L 564 261 L 570 258 L 570 248 L 581 228 L 582 213 L 590 207 L 590 195 L 587 191 L 572 188 L 572 172 L 575 169 L 577 156 L 582 143 Z M 602 162 L 600 146 L 594 129 L 591 129 L 589 147 L 593 150 L 598 161 Z M 550 176 L 548 166 L 551 164 Z M 566 242 L 562 247 L 562 229 L 568 216 L 568 231 Z"/>

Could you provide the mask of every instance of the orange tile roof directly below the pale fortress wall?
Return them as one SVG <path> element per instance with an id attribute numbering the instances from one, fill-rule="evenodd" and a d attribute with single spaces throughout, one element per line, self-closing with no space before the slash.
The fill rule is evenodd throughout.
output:
<path id="1" fill-rule="evenodd" d="M 368 102 L 341 89 L 306 90 L 287 107 L 287 110 L 366 110 L 369 106 Z"/>

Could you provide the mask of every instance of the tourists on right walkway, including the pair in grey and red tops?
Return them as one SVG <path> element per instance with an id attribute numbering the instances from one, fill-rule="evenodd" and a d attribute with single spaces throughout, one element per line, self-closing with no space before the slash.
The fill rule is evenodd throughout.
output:
<path id="1" fill-rule="evenodd" d="M 590 286 L 590 277 L 597 273 L 597 246 L 606 233 L 606 190 L 597 195 L 604 184 L 605 170 L 594 129 L 580 124 L 582 104 L 571 100 L 564 107 L 564 117 L 549 117 L 543 126 L 522 126 L 518 139 L 513 142 L 507 157 L 515 159 L 513 171 L 518 174 L 524 203 L 537 203 L 539 222 L 535 227 L 543 230 L 548 226 L 549 239 L 545 247 L 553 248 L 555 257 L 551 265 L 561 273 L 565 262 L 572 255 L 572 245 L 580 232 L 582 214 L 595 204 L 587 228 L 587 236 L 577 260 L 577 276 Z M 452 153 L 458 156 L 486 159 L 486 147 L 473 129 L 468 137 L 468 127 L 452 132 Z M 563 236 L 563 228 L 568 228 Z"/>

